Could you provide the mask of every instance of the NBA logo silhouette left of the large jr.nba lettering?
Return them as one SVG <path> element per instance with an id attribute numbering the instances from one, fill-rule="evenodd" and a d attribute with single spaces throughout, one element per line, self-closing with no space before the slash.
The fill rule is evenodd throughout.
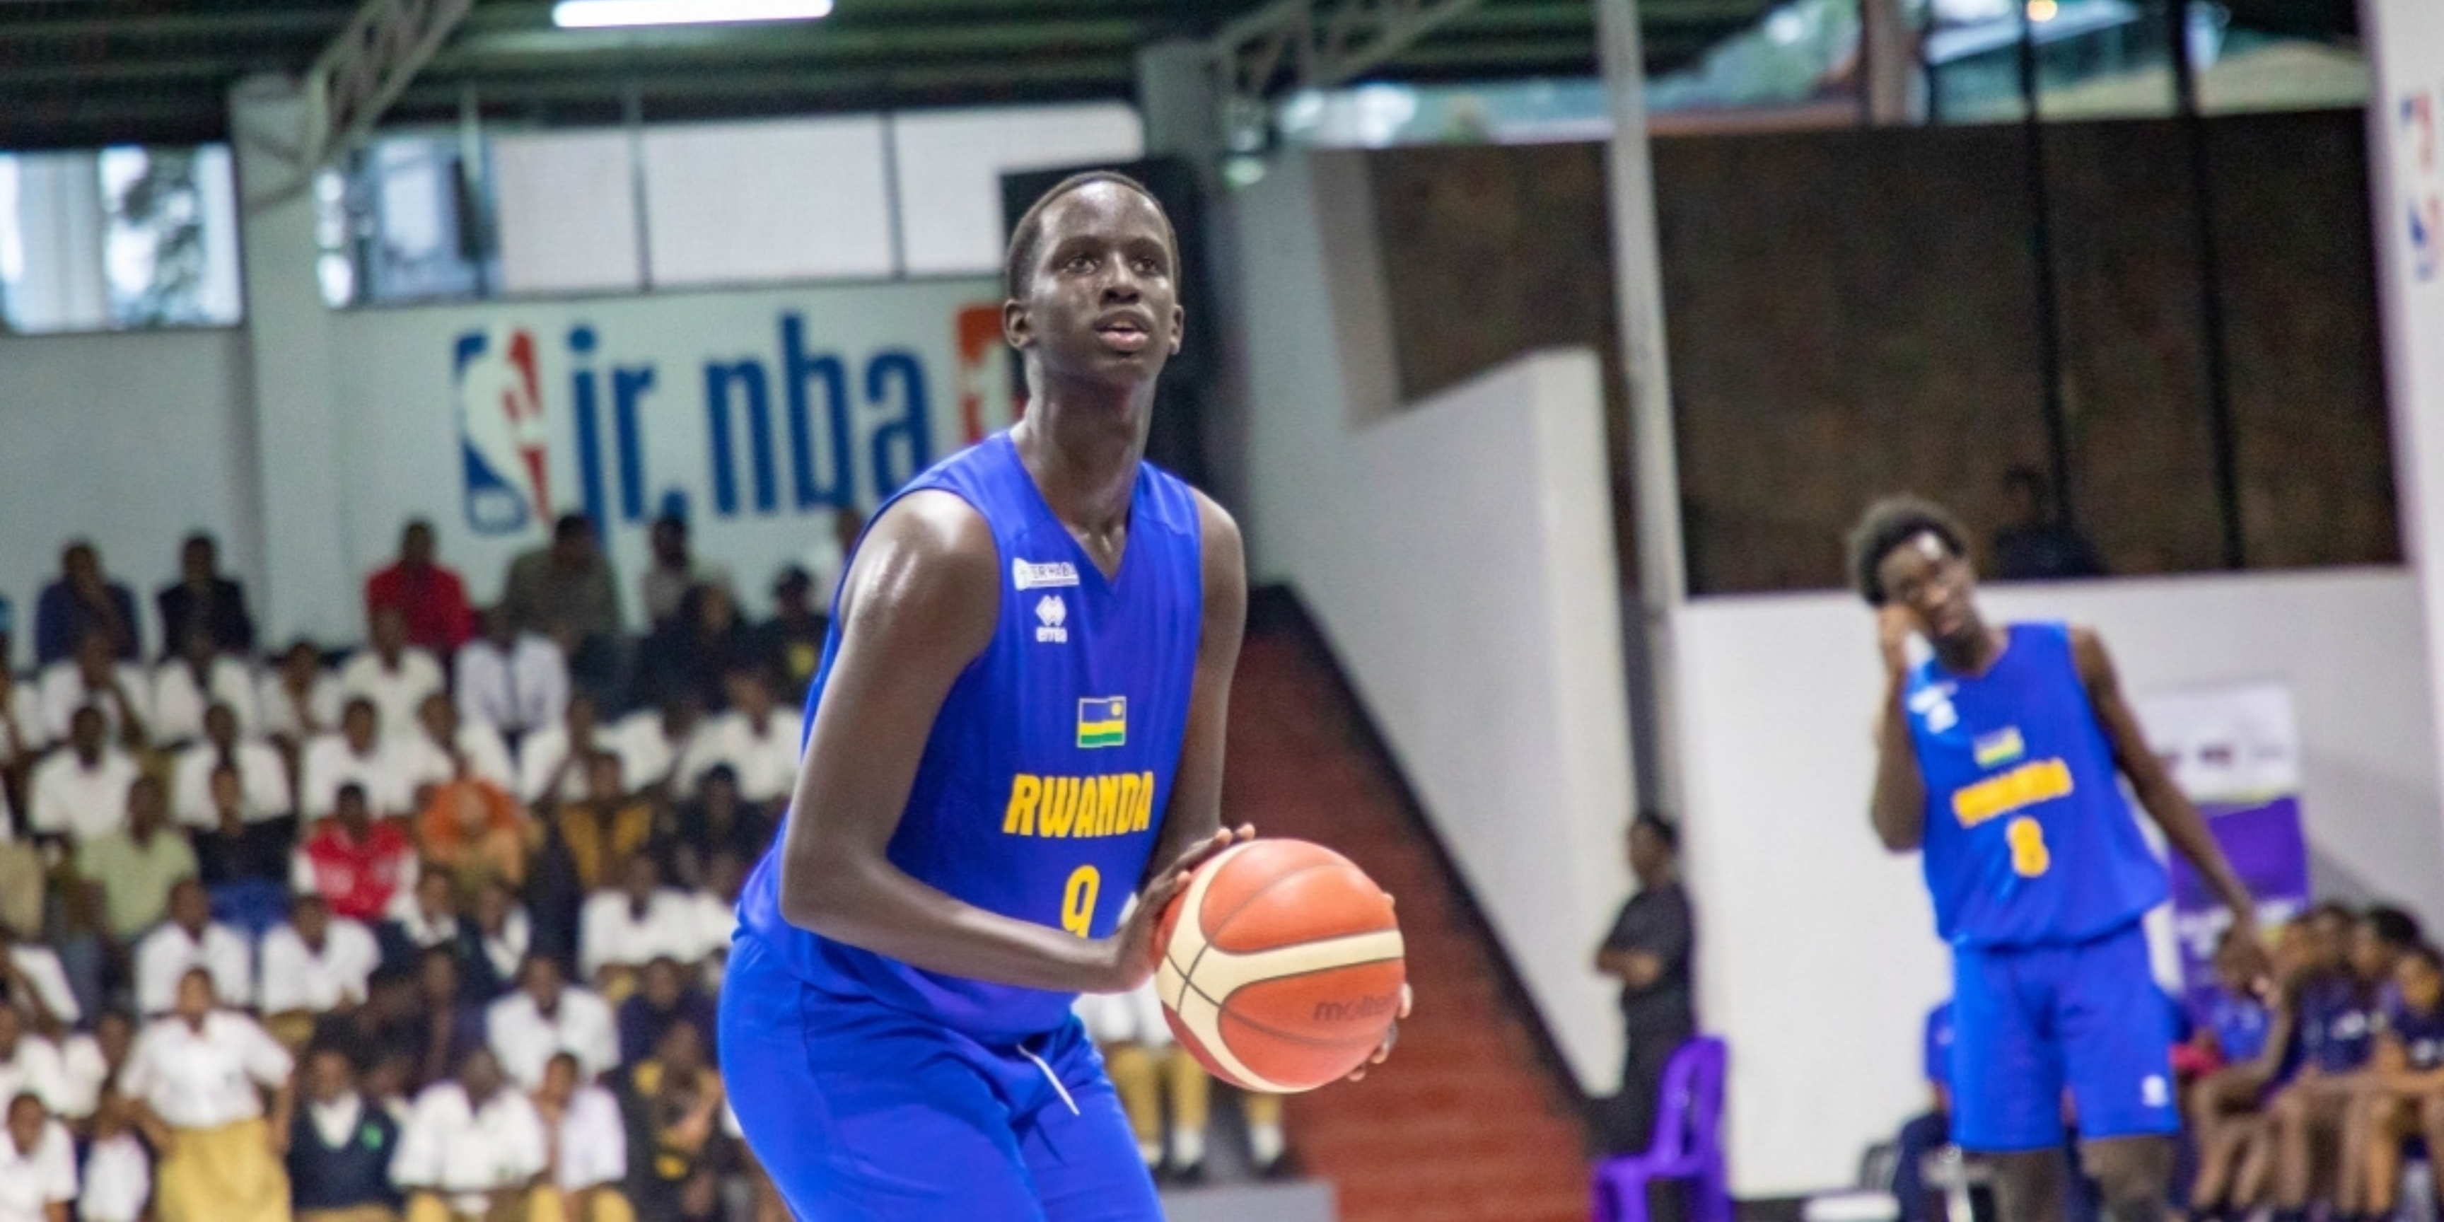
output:
<path id="1" fill-rule="evenodd" d="M 550 518 L 550 433 L 543 425 L 535 332 L 491 327 L 459 335 L 450 381 L 467 467 L 467 525 L 479 535 L 513 535 Z"/>

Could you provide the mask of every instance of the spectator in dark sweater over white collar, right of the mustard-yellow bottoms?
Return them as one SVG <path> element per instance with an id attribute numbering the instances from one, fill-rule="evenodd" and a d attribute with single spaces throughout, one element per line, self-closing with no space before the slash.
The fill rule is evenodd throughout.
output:
<path id="1" fill-rule="evenodd" d="M 398 1122 L 357 1092 L 357 1066 L 340 1048 L 310 1048 L 306 1100 L 288 1127 L 288 1200 L 298 1222 L 396 1220 L 396 1156 Z"/>

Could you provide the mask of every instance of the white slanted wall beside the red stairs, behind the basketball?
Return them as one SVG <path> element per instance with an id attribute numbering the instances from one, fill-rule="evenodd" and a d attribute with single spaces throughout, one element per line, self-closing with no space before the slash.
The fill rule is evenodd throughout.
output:
<path id="1" fill-rule="evenodd" d="M 1288 156 L 1232 200 L 1244 249 L 1246 521 L 1383 726 L 1589 1090 L 1618 1080 L 1586 970 L 1630 814 L 1603 391 L 1591 352 L 1391 411 L 1364 164 Z M 1420 1000 L 1432 1004 L 1432 997 Z"/>

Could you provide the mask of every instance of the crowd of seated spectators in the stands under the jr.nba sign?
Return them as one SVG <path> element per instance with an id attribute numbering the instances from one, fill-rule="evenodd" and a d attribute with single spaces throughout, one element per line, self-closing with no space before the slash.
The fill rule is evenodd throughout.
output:
<path id="1" fill-rule="evenodd" d="M 178 569 L 0 604 L 0 1222 L 787 1217 L 714 995 L 829 574 L 665 516 L 631 631 L 582 516 L 481 611 L 408 523 L 335 653 Z"/>

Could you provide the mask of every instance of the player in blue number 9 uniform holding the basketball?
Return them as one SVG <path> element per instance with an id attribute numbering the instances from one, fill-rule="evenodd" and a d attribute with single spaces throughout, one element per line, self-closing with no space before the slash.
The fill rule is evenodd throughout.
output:
<path id="1" fill-rule="evenodd" d="M 1070 1000 L 1146 982 L 1185 870 L 1254 836 L 1220 829 L 1239 528 L 1141 462 L 1176 276 L 1144 186 L 1036 200 L 1002 310 L 1026 418 L 848 560 L 721 990 L 731 1102 L 799 1217 L 1161 1217 Z"/>

